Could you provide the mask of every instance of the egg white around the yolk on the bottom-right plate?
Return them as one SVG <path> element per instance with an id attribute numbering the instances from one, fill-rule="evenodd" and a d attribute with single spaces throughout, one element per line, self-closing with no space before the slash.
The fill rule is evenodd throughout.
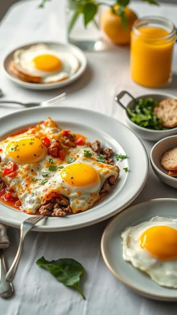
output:
<path id="1" fill-rule="evenodd" d="M 177 288 L 177 259 L 159 261 L 139 244 L 140 236 L 152 226 L 170 226 L 177 230 L 177 219 L 154 217 L 150 221 L 127 227 L 122 233 L 123 259 L 146 272 L 157 284 Z"/>

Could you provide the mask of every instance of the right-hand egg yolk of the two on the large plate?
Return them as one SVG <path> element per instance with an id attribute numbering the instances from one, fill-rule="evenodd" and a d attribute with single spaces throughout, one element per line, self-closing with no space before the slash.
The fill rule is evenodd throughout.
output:
<path id="1" fill-rule="evenodd" d="M 62 179 L 71 186 L 89 186 L 99 182 L 97 171 L 90 165 L 75 163 L 61 172 Z"/>

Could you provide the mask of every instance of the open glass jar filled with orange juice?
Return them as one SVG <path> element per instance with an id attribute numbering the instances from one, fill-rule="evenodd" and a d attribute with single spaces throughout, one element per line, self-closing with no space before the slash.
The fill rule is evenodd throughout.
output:
<path id="1" fill-rule="evenodd" d="M 175 39 L 175 26 L 164 17 L 149 16 L 134 22 L 130 70 L 136 83 L 157 88 L 171 82 Z"/>

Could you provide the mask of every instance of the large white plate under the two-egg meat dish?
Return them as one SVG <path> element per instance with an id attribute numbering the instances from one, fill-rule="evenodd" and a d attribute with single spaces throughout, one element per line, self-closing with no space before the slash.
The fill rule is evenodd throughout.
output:
<path id="1" fill-rule="evenodd" d="M 48 116 L 57 121 L 62 128 L 86 135 L 90 141 L 100 140 L 115 153 L 126 153 L 128 158 L 119 163 L 121 171 L 117 183 L 100 203 L 75 215 L 50 217 L 45 224 L 39 222 L 36 231 L 63 231 L 92 225 L 115 215 L 139 195 L 148 175 L 147 153 L 139 138 L 114 118 L 80 108 L 46 107 L 45 110 L 40 107 L 31 108 L 0 119 L 0 141 L 16 131 L 22 131 L 40 120 L 45 120 Z M 124 167 L 128 167 L 127 173 L 124 172 Z M 21 222 L 28 216 L 3 203 L 0 205 L 0 221 L 10 226 L 20 227 Z"/>

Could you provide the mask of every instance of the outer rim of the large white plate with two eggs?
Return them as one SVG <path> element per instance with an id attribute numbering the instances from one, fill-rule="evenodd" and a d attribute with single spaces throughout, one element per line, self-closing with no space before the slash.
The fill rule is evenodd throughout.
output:
<path id="1" fill-rule="evenodd" d="M 56 106 L 50 106 L 50 110 L 53 109 L 58 109 L 60 110 L 61 109 L 64 109 L 66 111 L 70 111 L 70 110 L 78 110 L 79 112 L 83 112 L 83 113 L 89 113 L 91 112 L 92 114 L 97 114 L 101 117 L 104 117 L 106 119 L 110 119 L 110 120 L 113 120 L 115 121 L 116 123 L 120 124 L 123 126 L 123 128 L 125 129 L 128 129 L 128 131 L 132 134 L 134 134 L 134 136 L 136 137 L 136 139 L 138 140 L 141 148 L 143 149 L 143 152 L 144 152 L 144 158 L 145 158 L 145 161 L 146 161 L 146 169 L 145 169 L 145 175 L 144 175 L 144 182 L 141 184 L 141 186 L 139 187 L 139 190 L 133 195 L 133 197 L 131 199 L 129 199 L 128 202 L 126 202 L 121 208 L 119 209 L 115 209 L 114 211 L 112 211 L 111 213 L 107 214 L 107 215 L 104 215 L 104 216 L 100 216 L 99 218 L 96 218 L 96 219 L 90 219 L 89 221 L 86 221 L 86 222 L 79 222 L 77 225 L 74 225 L 74 226 L 68 226 L 68 227 L 58 227 L 58 226 L 46 226 L 46 225 L 37 225 L 36 227 L 33 228 L 33 231 L 38 231 L 38 232 L 58 232 L 58 231 L 66 231 L 66 230 L 75 230 L 75 229 L 78 229 L 78 228 L 83 228 L 85 226 L 90 226 L 90 225 L 93 225 L 93 224 L 96 224 L 96 223 L 99 223 L 101 221 L 104 221 L 112 216 L 115 216 L 117 213 L 119 213 L 120 211 L 123 211 L 123 209 L 126 209 L 128 207 L 128 205 L 130 203 L 132 203 L 132 201 L 137 198 L 137 196 L 140 194 L 140 192 L 142 191 L 143 187 L 145 186 L 146 184 L 146 180 L 147 180 L 147 177 L 148 177 L 148 173 L 149 173 L 149 159 L 148 159 L 148 155 L 147 155 L 147 152 L 146 152 L 146 148 L 144 146 L 144 144 L 142 143 L 142 141 L 139 139 L 139 137 L 130 129 L 128 128 L 126 125 L 124 125 L 123 123 L 121 123 L 120 121 L 118 121 L 116 118 L 114 117 L 111 117 L 111 116 L 108 116 L 106 114 L 103 114 L 103 113 L 100 113 L 100 112 L 97 112 L 97 111 L 94 111 L 94 110 L 89 110 L 89 109 L 84 109 L 84 108 L 79 108 L 79 107 L 71 107 L 71 106 L 60 106 L 60 107 L 56 107 Z M 20 112 L 35 112 L 37 110 L 43 110 L 43 107 L 37 107 L 37 108 L 29 108 L 29 109 L 22 109 L 22 110 L 18 110 L 16 112 L 13 112 L 13 113 L 10 113 L 10 114 L 7 114 L 3 117 L 0 117 L 0 121 L 1 119 L 4 119 L 4 118 L 10 118 L 11 116 L 15 116 L 16 114 L 19 114 Z M 52 113 L 51 113 L 52 114 Z M 47 114 L 46 114 L 47 115 Z M 28 115 L 29 116 L 29 115 Z M 117 140 L 116 140 L 117 141 Z M 3 217 L 0 217 L 0 222 L 2 223 L 5 223 L 9 226 L 13 226 L 13 227 L 16 227 L 16 228 L 20 228 L 20 224 L 17 225 L 16 223 L 15 224 L 12 224 L 12 223 L 8 223 L 8 221 L 5 219 L 2 221 L 2 218 Z"/>

